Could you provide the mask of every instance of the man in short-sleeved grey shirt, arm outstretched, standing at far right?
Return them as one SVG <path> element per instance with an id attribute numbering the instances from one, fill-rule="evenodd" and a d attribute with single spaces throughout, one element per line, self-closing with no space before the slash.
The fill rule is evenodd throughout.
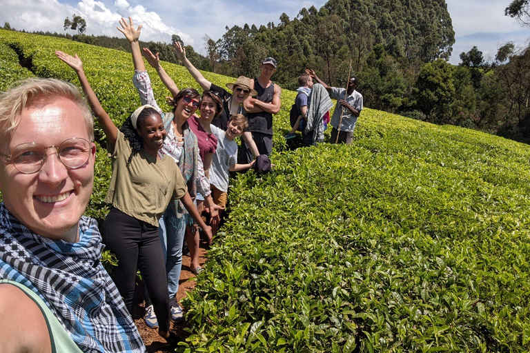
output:
<path id="1" fill-rule="evenodd" d="M 314 70 L 307 69 L 306 73 L 326 88 L 329 92 L 329 97 L 337 99 L 337 105 L 335 106 L 333 117 L 331 117 L 333 130 L 331 130 L 330 142 L 351 143 L 353 141 L 355 123 L 357 123 L 357 118 L 362 110 L 362 94 L 355 90 L 359 81 L 356 77 L 351 76 L 349 77 L 346 89 L 336 88 L 327 85 L 319 79 Z"/>

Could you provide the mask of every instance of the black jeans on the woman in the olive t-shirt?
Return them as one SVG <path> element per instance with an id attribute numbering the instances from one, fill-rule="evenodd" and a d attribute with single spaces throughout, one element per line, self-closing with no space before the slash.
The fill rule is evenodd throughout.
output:
<path id="1" fill-rule="evenodd" d="M 133 309 L 138 268 L 153 301 L 159 328 L 169 330 L 168 279 L 158 227 L 111 208 L 105 219 L 103 243 L 118 259 L 117 267 L 112 268 L 112 279 L 127 310 Z"/>

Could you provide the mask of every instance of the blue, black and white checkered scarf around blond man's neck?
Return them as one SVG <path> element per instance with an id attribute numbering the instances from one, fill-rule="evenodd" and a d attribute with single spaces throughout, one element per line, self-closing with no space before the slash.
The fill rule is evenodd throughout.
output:
<path id="1" fill-rule="evenodd" d="M 79 242 L 53 241 L 21 224 L 0 203 L 0 279 L 37 293 L 84 352 L 145 352 L 116 285 L 99 262 L 94 219 L 79 221 Z"/>

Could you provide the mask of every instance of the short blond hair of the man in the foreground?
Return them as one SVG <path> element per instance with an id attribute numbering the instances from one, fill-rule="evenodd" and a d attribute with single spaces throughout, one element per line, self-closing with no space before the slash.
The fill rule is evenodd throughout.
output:
<path id="1" fill-rule="evenodd" d="M 0 95 L 1 140 L 8 141 L 10 139 L 20 123 L 20 115 L 24 108 L 38 99 L 51 101 L 54 97 L 70 99 L 70 101 L 79 106 L 81 112 L 83 112 L 88 137 L 90 141 L 93 141 L 94 119 L 79 89 L 72 83 L 58 79 L 40 79 L 36 77 L 13 83 L 7 92 Z"/>

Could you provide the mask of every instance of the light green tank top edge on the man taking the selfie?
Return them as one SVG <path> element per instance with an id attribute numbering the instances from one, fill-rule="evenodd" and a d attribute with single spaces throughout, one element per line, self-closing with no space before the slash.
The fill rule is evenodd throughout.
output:
<path id="1" fill-rule="evenodd" d="M 0 284 L 1 283 L 14 285 L 15 287 L 22 290 L 22 292 L 26 293 L 26 295 L 30 297 L 35 304 L 37 304 L 44 316 L 44 319 L 46 320 L 46 325 L 48 326 L 48 333 L 50 334 L 53 353 L 82 353 L 79 347 L 72 340 L 72 337 L 70 337 L 70 334 L 68 334 L 63 325 L 59 323 L 57 317 L 55 317 L 48 305 L 44 303 L 40 296 L 20 283 L 8 281 L 7 279 L 0 279 Z"/>

